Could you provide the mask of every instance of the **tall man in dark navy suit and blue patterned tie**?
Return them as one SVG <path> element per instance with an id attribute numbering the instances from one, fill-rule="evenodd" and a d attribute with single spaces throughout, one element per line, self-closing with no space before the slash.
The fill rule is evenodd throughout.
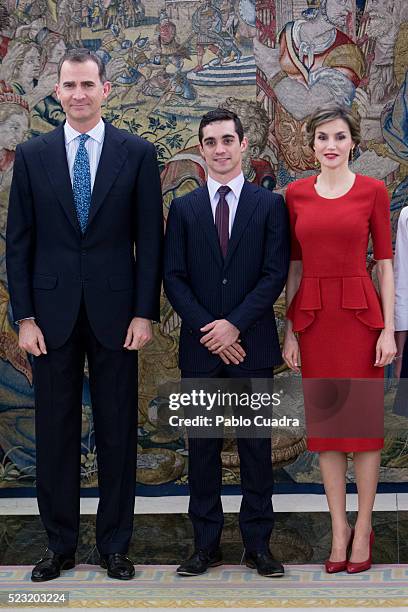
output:
<path id="1" fill-rule="evenodd" d="M 162 208 L 155 148 L 101 119 L 100 58 L 72 50 L 56 93 L 66 122 L 17 147 L 7 271 L 19 344 L 34 355 L 37 496 L 48 549 L 32 580 L 75 565 L 85 356 L 100 501 L 96 541 L 112 578 L 134 576 L 137 350 L 159 319 Z M 136 247 L 136 256 L 135 256 Z"/>

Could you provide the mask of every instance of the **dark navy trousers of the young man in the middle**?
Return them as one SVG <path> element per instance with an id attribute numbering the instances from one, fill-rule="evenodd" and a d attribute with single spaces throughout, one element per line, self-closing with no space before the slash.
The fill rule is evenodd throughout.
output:
<path id="1" fill-rule="evenodd" d="M 211 372 L 181 372 L 182 378 L 265 378 L 272 368 L 244 370 L 220 365 Z M 224 515 L 221 503 L 223 439 L 189 436 L 189 517 L 196 549 L 215 551 L 221 540 Z M 247 552 L 266 552 L 274 524 L 271 437 L 237 436 L 242 502 L 239 525 Z"/>

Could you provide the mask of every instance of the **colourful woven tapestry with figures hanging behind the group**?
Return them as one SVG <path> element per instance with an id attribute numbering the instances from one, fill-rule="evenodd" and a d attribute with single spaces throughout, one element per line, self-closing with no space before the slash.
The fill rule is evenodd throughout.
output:
<path id="1" fill-rule="evenodd" d="M 35 486 L 32 359 L 18 346 L 5 267 L 8 194 L 16 145 L 64 121 L 54 94 L 67 49 L 85 47 L 106 65 L 112 92 L 103 116 L 152 142 L 158 153 L 163 216 L 175 196 L 202 185 L 201 116 L 215 107 L 241 118 L 249 147 L 244 173 L 285 192 L 315 173 L 305 123 L 319 105 L 345 104 L 362 122 L 354 172 L 381 179 L 395 230 L 408 187 L 408 3 L 405 0 L 0 0 L 0 492 Z M 373 266 L 372 252 L 368 265 Z M 374 266 L 373 266 L 374 267 Z M 375 275 L 375 267 L 374 267 Z M 275 308 L 284 327 L 284 295 Z M 180 320 L 161 296 L 161 322 L 139 354 L 137 482 L 145 491 L 187 482 L 184 436 L 163 418 L 161 385 L 179 380 Z M 281 367 L 277 376 L 287 377 Z M 391 376 L 391 372 L 387 372 Z M 136 373 L 135 373 L 136 384 Z M 301 408 L 301 398 L 297 398 Z M 381 482 L 408 481 L 408 427 L 389 435 Z M 97 484 L 97 453 L 85 368 L 81 473 Z M 395 427 L 394 427 L 395 429 Z M 303 433 L 273 436 L 278 480 L 321 482 Z M 352 475 L 349 475 L 352 479 Z M 136 479 L 136 476 L 135 476 Z M 239 483 L 232 439 L 223 482 Z M 150 489 L 149 489 L 150 487 Z"/>

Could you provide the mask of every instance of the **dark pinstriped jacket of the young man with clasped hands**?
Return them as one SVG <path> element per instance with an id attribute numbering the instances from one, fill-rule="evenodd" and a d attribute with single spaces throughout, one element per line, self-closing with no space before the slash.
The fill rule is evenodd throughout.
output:
<path id="1" fill-rule="evenodd" d="M 241 332 L 243 368 L 282 362 L 273 304 L 288 273 L 289 229 L 282 196 L 247 181 L 224 261 L 207 186 L 173 200 L 165 237 L 164 288 L 183 322 L 182 370 L 208 372 L 220 358 L 199 340 L 200 328 L 227 319 Z"/>

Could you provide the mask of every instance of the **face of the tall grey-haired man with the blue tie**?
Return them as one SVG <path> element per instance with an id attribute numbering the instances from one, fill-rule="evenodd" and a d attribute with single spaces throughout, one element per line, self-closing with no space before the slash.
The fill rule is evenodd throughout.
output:
<path id="1" fill-rule="evenodd" d="M 68 121 L 73 124 L 98 123 L 101 106 L 111 90 L 111 84 L 101 83 L 98 66 L 93 60 L 65 61 L 61 67 L 55 91 Z"/>

